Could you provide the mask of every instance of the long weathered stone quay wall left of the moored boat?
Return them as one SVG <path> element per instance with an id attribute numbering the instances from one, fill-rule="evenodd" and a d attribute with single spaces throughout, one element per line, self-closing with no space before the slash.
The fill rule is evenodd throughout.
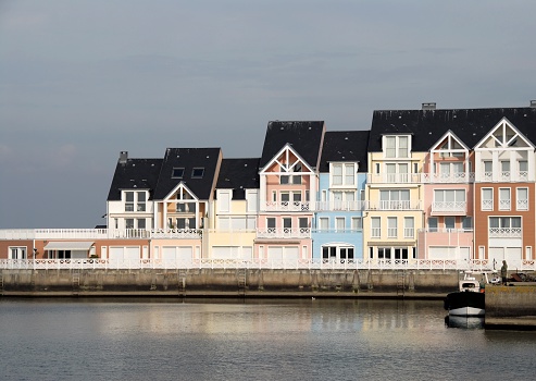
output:
<path id="1" fill-rule="evenodd" d="M 458 287 L 456 270 L 266 270 L 266 269 L 137 269 L 137 270 L 2 270 L 0 293 L 113 293 L 136 292 L 216 296 L 219 292 L 341 294 L 392 293 L 446 295 Z"/>

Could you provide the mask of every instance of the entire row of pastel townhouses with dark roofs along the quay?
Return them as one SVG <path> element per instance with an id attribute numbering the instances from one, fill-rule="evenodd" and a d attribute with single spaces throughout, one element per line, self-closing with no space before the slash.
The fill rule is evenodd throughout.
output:
<path id="1" fill-rule="evenodd" d="M 121 152 L 94 230 L 0 231 L 0 258 L 534 265 L 536 101 L 273 121 L 260 158 Z"/>

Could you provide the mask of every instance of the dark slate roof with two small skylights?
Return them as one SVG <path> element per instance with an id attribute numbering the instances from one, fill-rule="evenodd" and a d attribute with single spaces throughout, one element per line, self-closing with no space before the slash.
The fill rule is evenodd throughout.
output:
<path id="1" fill-rule="evenodd" d="M 167 148 L 154 192 L 154 199 L 166 197 L 180 182 L 199 199 L 210 199 L 221 156 L 220 148 Z M 173 179 L 173 169 L 184 168 L 182 179 Z M 194 168 L 203 168 L 201 179 L 191 179 Z"/>

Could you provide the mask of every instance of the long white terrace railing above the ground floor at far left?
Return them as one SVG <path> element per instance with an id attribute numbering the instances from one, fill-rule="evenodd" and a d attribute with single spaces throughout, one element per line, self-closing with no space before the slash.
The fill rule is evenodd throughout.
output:
<path id="1" fill-rule="evenodd" d="M 0 239 L 200 238 L 201 229 L 11 229 Z"/>

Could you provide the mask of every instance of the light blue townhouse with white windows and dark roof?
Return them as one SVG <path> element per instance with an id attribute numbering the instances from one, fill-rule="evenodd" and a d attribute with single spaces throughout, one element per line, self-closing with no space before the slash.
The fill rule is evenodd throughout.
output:
<path id="1" fill-rule="evenodd" d="M 363 258 L 367 131 L 326 132 L 312 231 L 313 259 Z"/>

